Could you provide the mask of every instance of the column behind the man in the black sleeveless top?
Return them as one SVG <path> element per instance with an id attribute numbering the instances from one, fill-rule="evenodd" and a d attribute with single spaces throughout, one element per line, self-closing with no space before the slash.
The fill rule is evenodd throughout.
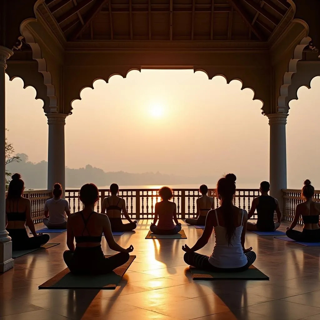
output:
<path id="1" fill-rule="evenodd" d="M 270 125 L 270 195 L 279 201 L 284 212 L 284 199 L 281 189 L 287 188 L 287 148 L 285 125 L 288 114 L 267 115 Z"/>

